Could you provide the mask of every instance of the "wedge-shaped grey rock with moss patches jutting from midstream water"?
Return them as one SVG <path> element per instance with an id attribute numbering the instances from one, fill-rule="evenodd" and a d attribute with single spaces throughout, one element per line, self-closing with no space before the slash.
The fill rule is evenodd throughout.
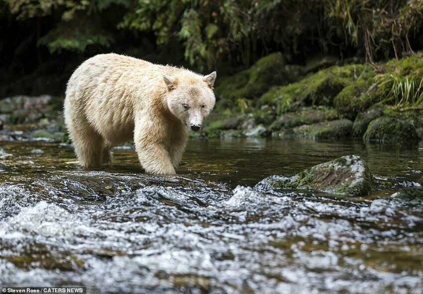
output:
<path id="1" fill-rule="evenodd" d="M 273 175 L 260 181 L 255 188 L 316 189 L 345 195 L 367 195 L 372 189 L 373 176 L 359 156 L 346 155 L 308 168 L 292 177 Z"/>

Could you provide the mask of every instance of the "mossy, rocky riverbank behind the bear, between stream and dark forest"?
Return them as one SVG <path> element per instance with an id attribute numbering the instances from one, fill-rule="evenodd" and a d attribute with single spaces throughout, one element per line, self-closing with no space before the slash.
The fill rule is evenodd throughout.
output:
<path id="1" fill-rule="evenodd" d="M 247 70 L 219 76 L 215 109 L 203 129 L 191 135 L 416 144 L 423 139 L 422 58 L 418 52 L 372 66 L 349 63 L 354 60 L 339 65 L 339 60 L 321 57 L 292 65 L 273 53 Z M 62 107 L 58 96 L 4 98 L 0 138 L 69 143 Z M 26 130 L 16 135 L 17 128 Z"/>

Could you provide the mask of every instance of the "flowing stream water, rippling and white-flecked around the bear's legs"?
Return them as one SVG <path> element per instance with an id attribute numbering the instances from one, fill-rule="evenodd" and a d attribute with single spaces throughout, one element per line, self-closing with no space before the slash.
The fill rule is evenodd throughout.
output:
<path id="1" fill-rule="evenodd" d="M 0 143 L 0 285 L 88 293 L 423 293 L 423 207 L 389 198 L 423 184 L 423 145 L 191 140 L 173 177 L 117 149 L 78 168 L 57 143 Z M 252 187 L 362 156 L 359 198 Z M 3 171 L 1 171 L 3 170 Z"/>

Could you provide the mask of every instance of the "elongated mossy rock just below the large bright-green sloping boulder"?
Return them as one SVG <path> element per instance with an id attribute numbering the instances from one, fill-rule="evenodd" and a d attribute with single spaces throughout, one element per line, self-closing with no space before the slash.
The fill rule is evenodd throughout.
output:
<path id="1" fill-rule="evenodd" d="M 338 118 L 336 110 L 326 107 L 303 107 L 296 112 L 282 114 L 269 127 L 270 131 L 310 125 Z"/>

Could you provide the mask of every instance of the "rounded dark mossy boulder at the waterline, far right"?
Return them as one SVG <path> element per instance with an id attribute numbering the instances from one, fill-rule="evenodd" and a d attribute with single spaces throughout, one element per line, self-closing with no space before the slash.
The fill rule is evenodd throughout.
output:
<path id="1" fill-rule="evenodd" d="M 411 123 L 394 117 L 373 120 L 363 136 L 365 142 L 380 143 L 414 142 L 416 139 L 416 128 Z"/>

